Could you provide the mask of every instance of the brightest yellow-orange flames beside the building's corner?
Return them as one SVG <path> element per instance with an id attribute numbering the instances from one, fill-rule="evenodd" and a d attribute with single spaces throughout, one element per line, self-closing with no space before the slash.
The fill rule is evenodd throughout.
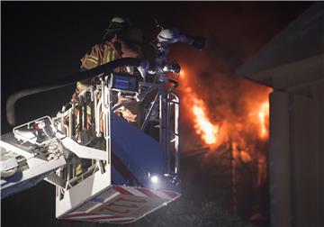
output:
<path id="1" fill-rule="evenodd" d="M 238 139 L 236 132 L 229 135 L 229 131 L 251 131 L 249 129 L 252 125 L 257 126 L 257 135 L 259 139 L 266 140 L 268 138 L 268 119 L 269 119 L 269 101 L 251 101 L 252 104 L 248 104 L 249 120 L 245 122 L 246 127 L 243 127 L 244 123 L 239 121 L 229 121 L 228 119 L 222 120 L 222 126 L 220 123 L 214 123 L 208 117 L 208 109 L 206 104 L 202 101 L 197 93 L 193 92 L 193 89 L 188 86 L 186 81 L 187 75 L 184 75 L 184 70 L 180 72 L 180 78 L 184 82 L 184 103 L 185 109 L 192 115 L 192 121 L 194 125 L 195 133 L 198 134 L 202 141 L 208 145 L 221 144 L 222 142 L 228 141 L 229 137 L 232 141 L 241 141 Z M 268 94 L 268 89 L 266 93 Z M 248 125 L 251 123 L 251 125 Z M 253 127 L 252 127 L 253 128 Z M 235 138 L 236 137 L 236 138 Z M 244 147 L 247 144 L 240 144 Z"/>

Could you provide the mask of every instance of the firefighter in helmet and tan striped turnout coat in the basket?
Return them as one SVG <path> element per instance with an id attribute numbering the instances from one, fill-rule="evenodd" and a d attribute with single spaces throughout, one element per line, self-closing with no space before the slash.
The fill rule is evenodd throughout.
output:
<path id="1" fill-rule="evenodd" d="M 103 35 L 103 43 L 96 44 L 81 59 L 81 70 L 95 68 L 114 59 L 121 58 L 140 58 L 142 42 L 142 33 L 139 29 L 132 26 L 132 23 L 121 17 L 112 18 L 108 29 Z M 118 68 L 116 71 L 132 73 L 131 68 Z M 77 95 L 85 90 L 92 83 L 95 83 L 97 77 L 76 83 L 76 91 L 72 97 L 72 101 L 76 100 Z M 129 100 L 122 95 L 118 95 L 118 104 Z M 136 113 L 138 104 L 130 102 L 127 106 L 122 106 L 116 111 L 130 123 L 139 123 L 139 117 Z"/>

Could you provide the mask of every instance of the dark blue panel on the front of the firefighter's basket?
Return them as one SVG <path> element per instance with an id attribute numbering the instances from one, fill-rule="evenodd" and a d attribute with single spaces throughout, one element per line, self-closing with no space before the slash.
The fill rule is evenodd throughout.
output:
<path id="1" fill-rule="evenodd" d="M 166 159 L 157 141 L 112 114 L 112 166 L 112 182 L 148 186 L 148 173 L 163 175 Z M 123 178 L 128 180 L 121 182 Z"/>

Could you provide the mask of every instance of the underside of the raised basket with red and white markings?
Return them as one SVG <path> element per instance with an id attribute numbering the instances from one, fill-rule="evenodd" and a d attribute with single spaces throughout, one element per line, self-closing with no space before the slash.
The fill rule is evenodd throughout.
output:
<path id="1" fill-rule="evenodd" d="M 61 218 L 88 222 L 134 222 L 179 196 L 174 191 L 112 186 Z"/>

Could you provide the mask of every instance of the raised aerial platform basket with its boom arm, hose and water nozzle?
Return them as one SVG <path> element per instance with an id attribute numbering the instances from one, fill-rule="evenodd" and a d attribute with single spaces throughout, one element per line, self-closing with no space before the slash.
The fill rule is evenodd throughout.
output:
<path id="1" fill-rule="evenodd" d="M 162 29 L 154 63 L 116 59 L 11 95 L 6 114 L 14 125 L 20 98 L 92 79 L 55 117 L 25 123 L 1 138 L 2 198 L 44 179 L 56 186 L 58 219 L 112 223 L 135 222 L 178 198 L 180 103 L 177 81 L 166 76 L 180 72 L 166 59 L 175 42 L 201 49 L 204 40 Z M 128 73 L 114 72 L 121 67 Z M 116 115 L 131 102 L 140 106 L 137 127 Z"/>

